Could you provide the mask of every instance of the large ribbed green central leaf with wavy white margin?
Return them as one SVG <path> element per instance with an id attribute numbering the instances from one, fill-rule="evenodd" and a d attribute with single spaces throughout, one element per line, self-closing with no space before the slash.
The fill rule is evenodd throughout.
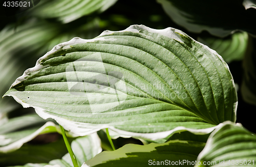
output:
<path id="1" fill-rule="evenodd" d="M 209 133 L 235 121 L 237 107 L 216 51 L 179 30 L 144 25 L 55 46 L 5 96 L 79 135 L 109 127 L 152 140 L 174 131 Z"/>

